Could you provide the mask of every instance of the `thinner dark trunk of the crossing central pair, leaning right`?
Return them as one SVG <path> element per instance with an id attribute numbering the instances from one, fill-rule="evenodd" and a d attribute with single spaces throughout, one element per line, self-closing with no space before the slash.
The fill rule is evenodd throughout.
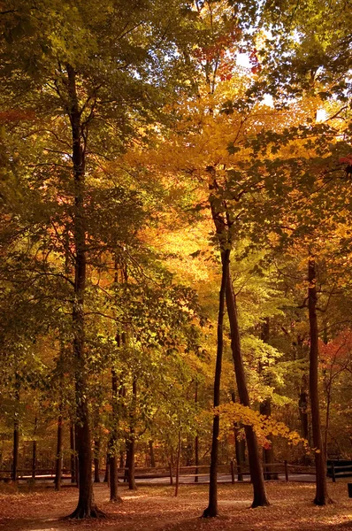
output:
<path id="1" fill-rule="evenodd" d="M 222 260 L 221 287 L 218 296 L 218 346 L 217 360 L 215 366 L 214 378 L 214 408 L 220 404 L 220 382 L 221 382 L 221 365 L 224 350 L 224 315 L 225 315 L 225 294 L 228 282 L 228 259 L 230 251 L 226 250 Z M 212 424 L 212 442 L 210 453 L 210 485 L 209 485 L 209 504 L 203 512 L 203 518 L 213 518 L 218 516 L 218 435 L 220 427 L 219 415 L 214 415 Z"/>

